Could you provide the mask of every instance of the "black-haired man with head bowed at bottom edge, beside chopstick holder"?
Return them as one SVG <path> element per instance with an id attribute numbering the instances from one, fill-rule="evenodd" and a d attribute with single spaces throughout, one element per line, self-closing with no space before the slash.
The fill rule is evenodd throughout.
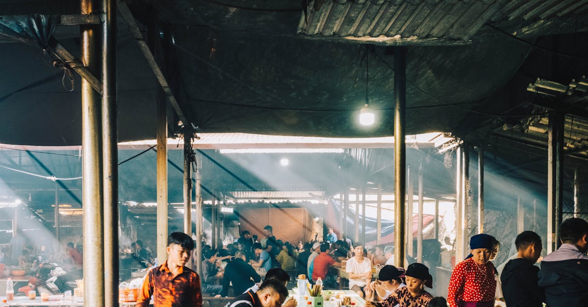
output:
<path id="1" fill-rule="evenodd" d="M 258 292 L 247 291 L 225 305 L 225 307 L 280 307 L 288 297 L 288 289 L 276 279 L 268 279 Z"/>

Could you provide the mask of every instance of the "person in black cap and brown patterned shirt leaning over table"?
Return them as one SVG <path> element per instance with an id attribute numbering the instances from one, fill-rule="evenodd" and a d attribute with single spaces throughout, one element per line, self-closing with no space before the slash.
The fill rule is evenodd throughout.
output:
<path id="1" fill-rule="evenodd" d="M 424 286 L 429 288 L 433 286 L 433 276 L 430 275 L 429 268 L 423 265 L 423 263 L 412 263 L 406 268 L 406 287 L 396 290 L 396 292 L 393 292 L 381 302 L 375 304 L 367 303 L 366 306 L 426 306 L 433 296 L 425 291 Z"/>

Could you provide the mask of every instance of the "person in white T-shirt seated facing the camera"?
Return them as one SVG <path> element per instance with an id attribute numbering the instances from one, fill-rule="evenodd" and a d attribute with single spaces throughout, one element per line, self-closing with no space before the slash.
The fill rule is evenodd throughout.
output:
<path id="1" fill-rule="evenodd" d="M 356 243 L 355 256 L 347 261 L 345 272 L 349 277 L 349 289 L 358 293 L 363 298 L 366 291 L 370 291 L 368 285 L 372 281 L 372 261 L 365 257 L 362 243 Z"/>

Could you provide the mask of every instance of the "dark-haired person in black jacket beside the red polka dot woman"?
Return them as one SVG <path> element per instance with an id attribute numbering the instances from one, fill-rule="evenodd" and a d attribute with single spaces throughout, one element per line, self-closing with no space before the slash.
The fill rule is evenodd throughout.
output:
<path id="1" fill-rule="evenodd" d="M 515 246 L 518 257 L 506 263 L 500 275 L 506 305 L 542 307 L 545 293 L 537 285 L 539 268 L 534 266 L 543 249 L 541 237 L 532 231 L 523 231 L 516 237 Z"/>

